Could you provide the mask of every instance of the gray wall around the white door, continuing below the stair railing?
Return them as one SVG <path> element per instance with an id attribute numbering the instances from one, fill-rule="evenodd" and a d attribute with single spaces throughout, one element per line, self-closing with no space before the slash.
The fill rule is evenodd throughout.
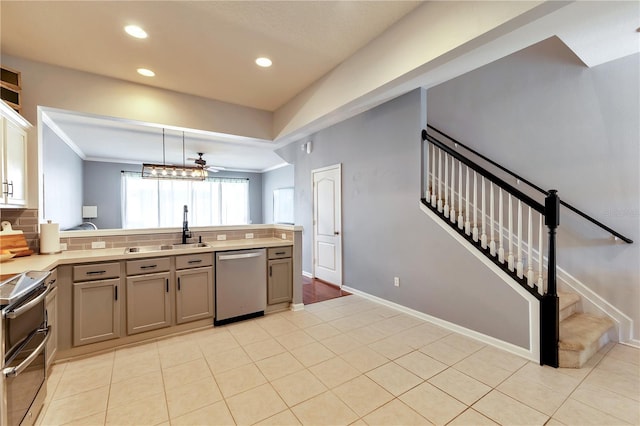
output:
<path id="1" fill-rule="evenodd" d="M 312 271 L 311 171 L 342 163 L 344 284 L 526 348 L 524 300 L 419 208 L 424 95 L 318 132 L 311 154 L 300 150 L 309 138 L 278 151 L 295 167 L 303 269 Z"/>

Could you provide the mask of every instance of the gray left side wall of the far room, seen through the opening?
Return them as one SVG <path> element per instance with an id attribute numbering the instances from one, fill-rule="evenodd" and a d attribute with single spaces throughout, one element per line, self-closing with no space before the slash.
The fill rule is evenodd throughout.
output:
<path id="1" fill-rule="evenodd" d="M 82 222 L 82 159 L 49 126 L 42 126 L 45 220 L 60 229 Z"/>

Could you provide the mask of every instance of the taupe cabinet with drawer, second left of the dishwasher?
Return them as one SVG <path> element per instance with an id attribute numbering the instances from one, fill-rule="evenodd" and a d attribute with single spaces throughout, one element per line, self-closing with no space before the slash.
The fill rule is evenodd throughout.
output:
<path id="1" fill-rule="evenodd" d="M 171 326 L 169 257 L 127 262 L 127 334 Z"/>

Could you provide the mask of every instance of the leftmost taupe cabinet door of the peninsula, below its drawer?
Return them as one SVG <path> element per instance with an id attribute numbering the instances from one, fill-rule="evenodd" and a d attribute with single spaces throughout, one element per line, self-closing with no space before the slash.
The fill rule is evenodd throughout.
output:
<path id="1" fill-rule="evenodd" d="M 120 337 L 120 280 L 73 284 L 73 345 Z"/>

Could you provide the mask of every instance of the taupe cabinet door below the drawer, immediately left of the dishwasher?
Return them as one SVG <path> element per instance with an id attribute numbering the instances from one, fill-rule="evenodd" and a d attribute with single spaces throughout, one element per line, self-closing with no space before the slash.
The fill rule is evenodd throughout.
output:
<path id="1" fill-rule="evenodd" d="M 176 272 L 176 321 L 182 324 L 213 317 L 213 268 Z"/>

